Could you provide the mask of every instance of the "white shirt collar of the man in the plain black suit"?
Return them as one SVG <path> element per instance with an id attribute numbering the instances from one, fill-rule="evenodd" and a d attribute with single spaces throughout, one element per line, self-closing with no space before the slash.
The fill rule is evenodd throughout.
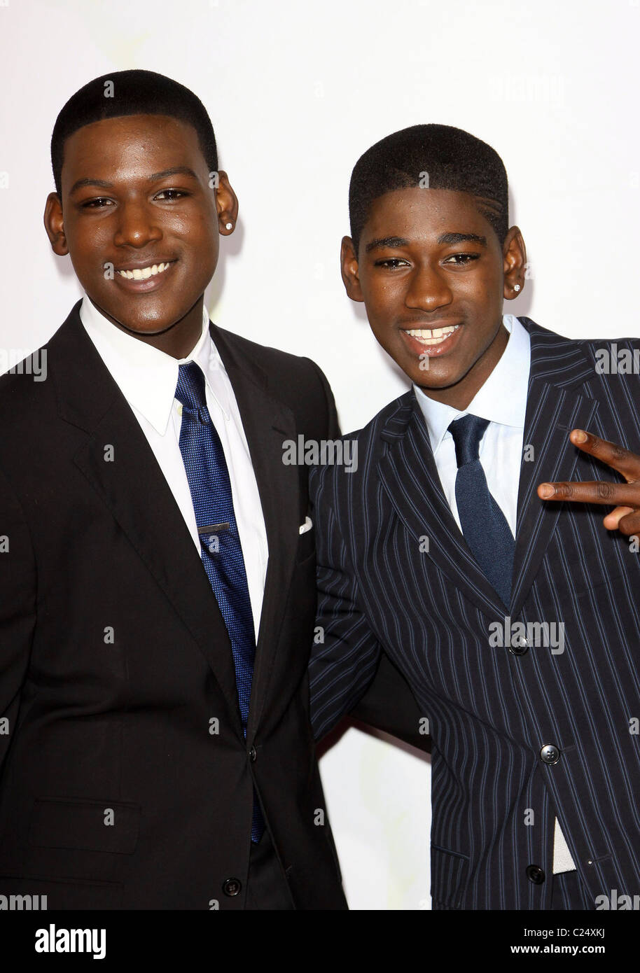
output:
<path id="1" fill-rule="evenodd" d="M 144 415 L 161 436 L 171 415 L 178 383 L 178 366 L 196 361 L 202 369 L 211 394 L 226 415 L 229 403 L 222 383 L 213 381 L 216 372 L 224 372 L 222 359 L 209 336 L 209 315 L 202 308 L 202 331 L 195 347 L 186 358 L 173 358 L 153 344 L 141 342 L 116 327 L 84 296 L 80 318 L 100 357 L 119 385 L 132 409 Z"/>

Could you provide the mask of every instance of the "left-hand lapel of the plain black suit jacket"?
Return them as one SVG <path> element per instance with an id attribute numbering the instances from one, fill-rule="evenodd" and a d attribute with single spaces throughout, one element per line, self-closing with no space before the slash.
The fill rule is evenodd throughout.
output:
<path id="1" fill-rule="evenodd" d="M 50 342 L 61 417 L 87 433 L 75 463 L 195 638 L 242 738 L 231 642 L 218 602 L 154 452 L 90 341 L 79 307 Z M 106 458 L 110 447 L 113 459 Z"/>

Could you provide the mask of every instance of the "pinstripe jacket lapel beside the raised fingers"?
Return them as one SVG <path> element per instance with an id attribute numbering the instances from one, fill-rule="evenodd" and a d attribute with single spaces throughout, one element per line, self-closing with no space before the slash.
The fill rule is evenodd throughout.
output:
<path id="1" fill-rule="evenodd" d="M 593 378 L 593 368 L 580 344 L 529 318 L 519 320 L 531 340 L 531 369 L 517 492 L 513 618 L 519 615 L 533 584 L 561 508 L 559 503 L 541 500 L 536 488 L 541 483 L 572 479 L 579 450 L 569 442 L 569 433 L 574 428 L 588 429 L 597 411 L 597 402 L 582 388 Z M 531 459 L 527 459 L 528 453 L 532 453 Z"/>

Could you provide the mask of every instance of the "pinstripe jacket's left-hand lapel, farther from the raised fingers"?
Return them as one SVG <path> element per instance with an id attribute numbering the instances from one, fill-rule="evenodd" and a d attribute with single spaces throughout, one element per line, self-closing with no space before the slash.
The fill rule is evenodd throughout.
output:
<path id="1" fill-rule="evenodd" d="M 444 497 L 426 423 L 413 391 L 386 422 L 382 438 L 390 445 L 378 472 L 391 503 L 415 539 L 416 557 L 429 558 L 467 597 L 490 616 L 504 615 L 499 595 L 486 580 L 465 543 Z M 419 541 L 429 538 L 423 554 Z"/>

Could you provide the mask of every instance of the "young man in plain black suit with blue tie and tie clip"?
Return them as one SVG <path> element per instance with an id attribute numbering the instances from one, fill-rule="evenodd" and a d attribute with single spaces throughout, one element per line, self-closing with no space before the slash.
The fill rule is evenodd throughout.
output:
<path id="1" fill-rule="evenodd" d="M 283 463 L 338 434 L 333 396 L 209 322 L 238 205 L 193 92 L 97 78 L 52 159 L 45 226 L 86 296 L 46 380 L 0 380 L 0 892 L 344 909 L 308 718 L 306 469 Z"/>

